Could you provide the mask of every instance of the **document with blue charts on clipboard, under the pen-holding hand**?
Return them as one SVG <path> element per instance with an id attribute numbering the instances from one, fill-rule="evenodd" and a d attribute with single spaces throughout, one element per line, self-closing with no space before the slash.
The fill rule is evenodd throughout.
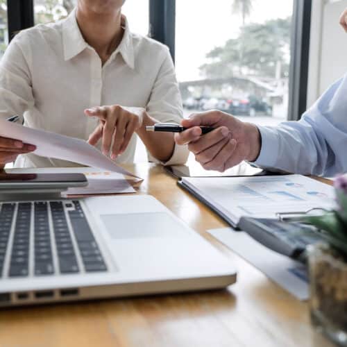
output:
<path id="1" fill-rule="evenodd" d="M 332 187 L 301 175 L 187 177 L 179 185 L 232 226 L 243 216 L 275 218 L 282 213 L 330 210 L 335 203 Z"/>

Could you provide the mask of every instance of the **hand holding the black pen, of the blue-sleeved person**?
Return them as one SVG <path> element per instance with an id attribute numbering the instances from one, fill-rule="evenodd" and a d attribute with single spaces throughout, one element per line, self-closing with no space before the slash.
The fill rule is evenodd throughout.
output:
<path id="1" fill-rule="evenodd" d="M 189 128 L 175 134 L 177 144 L 188 144 L 197 162 L 207 170 L 225 171 L 242 162 L 254 161 L 260 153 L 260 133 L 257 127 L 243 123 L 220 111 L 197 113 L 183 119 Z M 212 126 L 212 132 L 201 135 L 199 126 Z"/>

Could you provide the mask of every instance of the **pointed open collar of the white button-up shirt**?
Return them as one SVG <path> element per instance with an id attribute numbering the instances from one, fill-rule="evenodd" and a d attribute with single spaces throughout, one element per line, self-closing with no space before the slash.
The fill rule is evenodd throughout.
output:
<path id="1" fill-rule="evenodd" d="M 121 25 L 124 27 L 124 35 L 121 43 L 112 53 L 110 59 L 115 59 L 117 53 L 121 53 L 124 61 L 130 67 L 130 69 L 135 68 L 135 57 L 134 57 L 134 46 L 133 46 L 133 36 L 130 33 L 128 20 L 123 15 L 121 19 Z M 64 47 L 64 59 L 65 61 L 74 58 L 84 49 L 89 47 L 89 44 L 85 42 L 80 28 L 78 28 L 76 20 L 76 10 L 73 10 L 67 19 L 62 24 L 62 40 Z"/>

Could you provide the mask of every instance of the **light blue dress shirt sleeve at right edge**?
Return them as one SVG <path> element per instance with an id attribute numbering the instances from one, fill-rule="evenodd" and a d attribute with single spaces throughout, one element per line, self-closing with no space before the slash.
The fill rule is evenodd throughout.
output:
<path id="1" fill-rule="evenodd" d="M 347 75 L 300 121 L 259 130 L 262 149 L 257 166 L 326 177 L 347 173 Z"/>

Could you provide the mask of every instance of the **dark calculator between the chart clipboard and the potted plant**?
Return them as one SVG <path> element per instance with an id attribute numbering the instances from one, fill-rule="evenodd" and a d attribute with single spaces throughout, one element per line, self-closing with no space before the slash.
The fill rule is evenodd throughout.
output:
<path id="1" fill-rule="evenodd" d="M 257 242 L 294 260 L 306 262 L 306 248 L 323 241 L 316 228 L 298 221 L 242 217 L 239 229 Z"/>

